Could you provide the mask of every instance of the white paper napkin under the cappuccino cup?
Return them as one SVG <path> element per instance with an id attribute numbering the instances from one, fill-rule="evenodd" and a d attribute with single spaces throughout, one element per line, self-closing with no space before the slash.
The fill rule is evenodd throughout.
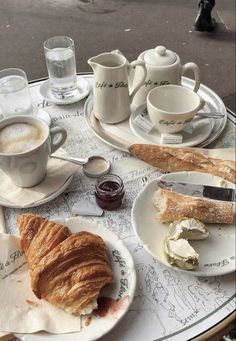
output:
<path id="1" fill-rule="evenodd" d="M 0 197 L 12 204 L 25 207 L 55 192 L 80 168 L 81 166 L 74 163 L 50 158 L 45 179 L 31 188 L 17 187 L 0 169 Z"/>

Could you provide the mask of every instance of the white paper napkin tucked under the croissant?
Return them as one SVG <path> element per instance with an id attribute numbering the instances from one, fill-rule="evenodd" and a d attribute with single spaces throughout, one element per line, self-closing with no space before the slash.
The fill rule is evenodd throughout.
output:
<path id="1" fill-rule="evenodd" d="M 0 233 L 0 245 L 0 332 L 80 331 L 80 317 L 39 300 L 32 292 L 19 238 Z"/>

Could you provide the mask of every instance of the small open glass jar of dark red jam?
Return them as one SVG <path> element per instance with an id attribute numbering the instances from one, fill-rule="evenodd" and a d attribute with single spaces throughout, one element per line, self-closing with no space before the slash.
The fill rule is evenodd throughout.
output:
<path id="1" fill-rule="evenodd" d="M 104 210 L 115 210 L 122 204 L 125 194 L 122 179 L 115 174 L 102 175 L 95 185 L 95 197 L 98 206 Z"/>

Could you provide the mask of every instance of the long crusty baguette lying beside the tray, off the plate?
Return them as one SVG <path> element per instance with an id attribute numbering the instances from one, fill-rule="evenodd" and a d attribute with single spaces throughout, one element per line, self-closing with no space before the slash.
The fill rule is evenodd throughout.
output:
<path id="1" fill-rule="evenodd" d="M 235 161 L 207 157 L 200 152 L 150 144 L 133 144 L 129 152 L 160 170 L 167 172 L 198 171 L 236 182 Z"/>

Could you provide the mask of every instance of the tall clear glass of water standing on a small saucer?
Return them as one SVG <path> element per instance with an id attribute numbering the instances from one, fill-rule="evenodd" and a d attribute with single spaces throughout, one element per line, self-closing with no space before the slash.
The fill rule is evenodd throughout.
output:
<path id="1" fill-rule="evenodd" d="M 52 94 L 59 99 L 74 97 L 78 91 L 74 41 L 58 36 L 43 46 Z"/>

